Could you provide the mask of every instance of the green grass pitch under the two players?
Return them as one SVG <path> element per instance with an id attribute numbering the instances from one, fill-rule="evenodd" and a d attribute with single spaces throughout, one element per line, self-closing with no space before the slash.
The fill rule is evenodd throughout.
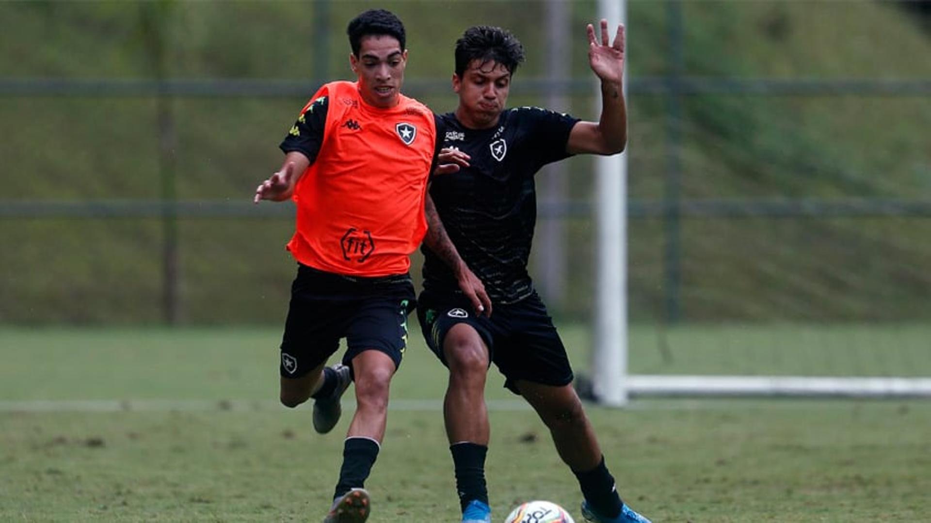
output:
<path id="1" fill-rule="evenodd" d="M 689 365 L 681 354 L 700 332 L 670 333 L 672 370 Z M 584 331 L 564 335 L 585 369 Z M 348 416 L 318 436 L 309 408 L 277 406 L 278 337 L 0 329 L 0 521 L 318 521 Z M 419 334 L 412 341 L 366 485 L 373 523 L 457 520 L 444 370 Z M 725 349 L 720 359 L 732 359 Z M 492 370 L 495 520 L 534 498 L 580 518 L 574 478 L 542 424 L 500 385 Z M 931 402 L 642 399 L 588 413 L 622 496 L 656 522 L 931 518 Z"/>

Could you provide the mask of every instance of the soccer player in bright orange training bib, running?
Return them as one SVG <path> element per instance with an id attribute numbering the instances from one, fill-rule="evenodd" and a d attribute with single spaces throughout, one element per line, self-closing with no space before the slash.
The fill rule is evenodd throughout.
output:
<path id="1" fill-rule="evenodd" d="M 340 418 L 340 397 L 356 383 L 356 413 L 324 523 L 371 513 L 363 483 L 385 436 L 388 386 L 407 342 L 415 305 L 410 254 L 426 232 L 427 181 L 441 144 L 434 114 L 399 92 L 408 52 L 398 17 L 371 9 L 346 32 L 358 81 L 317 90 L 281 142 L 281 168 L 255 191 L 256 203 L 297 205 L 281 403 L 293 408 L 313 397 L 314 428 L 327 433 Z M 327 367 L 341 338 L 342 363 Z"/>

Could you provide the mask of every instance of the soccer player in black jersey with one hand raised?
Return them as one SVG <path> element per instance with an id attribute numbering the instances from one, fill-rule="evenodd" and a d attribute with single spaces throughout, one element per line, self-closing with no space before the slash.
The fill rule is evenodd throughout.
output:
<path id="1" fill-rule="evenodd" d="M 438 172 L 444 176 L 434 177 L 434 205 L 427 202 L 430 230 L 417 314 L 427 344 L 450 370 L 443 413 L 464 523 L 491 521 L 483 391 L 492 362 L 505 375 L 505 386 L 546 423 L 560 458 L 578 478 L 583 516 L 648 521 L 617 494 L 573 389 L 565 348 L 527 273 L 537 170 L 573 154 L 617 154 L 627 144 L 624 27 L 617 27 L 614 43 L 607 20 L 600 21 L 600 39 L 590 24 L 587 34 L 588 61 L 601 83 L 598 122 L 536 107 L 505 109 L 523 60 L 514 35 L 477 26 L 456 42 L 452 88 L 459 106 L 442 116 L 446 134 Z"/>

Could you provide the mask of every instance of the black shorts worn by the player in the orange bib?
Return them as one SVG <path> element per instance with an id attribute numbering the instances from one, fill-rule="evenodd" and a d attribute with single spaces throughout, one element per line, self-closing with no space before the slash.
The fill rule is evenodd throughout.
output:
<path id="1" fill-rule="evenodd" d="M 346 339 L 344 365 L 374 349 L 395 367 L 407 348 L 407 317 L 416 306 L 410 275 L 335 275 L 299 264 L 281 341 L 281 376 L 299 378 L 327 361 Z"/>

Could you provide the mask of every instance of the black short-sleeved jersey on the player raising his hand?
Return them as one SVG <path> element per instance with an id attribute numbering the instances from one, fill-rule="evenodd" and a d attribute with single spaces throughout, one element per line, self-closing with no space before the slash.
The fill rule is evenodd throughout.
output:
<path id="1" fill-rule="evenodd" d="M 443 147 L 469 156 L 469 167 L 433 177 L 430 196 L 452 245 L 479 276 L 492 302 L 513 303 L 533 293 L 527 273 L 536 223 L 533 175 L 570 156 L 566 143 L 577 118 L 538 107 L 502 112 L 488 129 L 463 127 L 443 114 Z M 450 268 L 426 246 L 424 288 L 457 291 Z"/>

